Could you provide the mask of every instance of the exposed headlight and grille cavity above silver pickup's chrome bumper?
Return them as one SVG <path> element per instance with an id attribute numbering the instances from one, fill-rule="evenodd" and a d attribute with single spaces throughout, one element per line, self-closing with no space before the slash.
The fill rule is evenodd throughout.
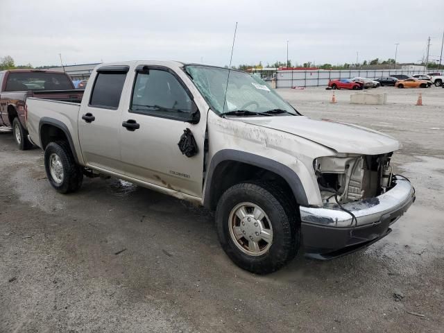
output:
<path id="1" fill-rule="evenodd" d="M 392 153 L 382 155 L 336 155 L 313 162 L 323 204 L 350 203 L 373 198 L 390 187 Z"/>

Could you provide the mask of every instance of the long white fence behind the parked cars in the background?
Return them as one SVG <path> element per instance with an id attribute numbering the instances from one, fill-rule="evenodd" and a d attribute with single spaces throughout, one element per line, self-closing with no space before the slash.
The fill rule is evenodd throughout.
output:
<path id="1" fill-rule="evenodd" d="M 375 69 L 375 70 L 346 70 L 346 71 L 325 71 L 322 69 L 311 71 L 277 71 L 276 87 L 318 87 L 320 85 L 328 85 L 328 80 L 336 78 L 355 78 L 360 76 L 363 78 L 381 78 L 391 76 L 392 74 L 427 74 L 436 71 L 436 69 L 406 71 L 402 69 Z"/>

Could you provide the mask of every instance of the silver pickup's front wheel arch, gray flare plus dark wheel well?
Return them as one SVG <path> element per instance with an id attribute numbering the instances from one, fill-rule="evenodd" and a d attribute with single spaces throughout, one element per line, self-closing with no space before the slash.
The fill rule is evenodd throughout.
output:
<path id="1" fill-rule="evenodd" d="M 214 210 L 223 192 L 240 182 L 270 180 L 282 187 L 293 203 L 308 205 L 298 175 L 289 167 L 259 155 L 225 149 L 214 155 L 207 172 L 203 205 Z"/>

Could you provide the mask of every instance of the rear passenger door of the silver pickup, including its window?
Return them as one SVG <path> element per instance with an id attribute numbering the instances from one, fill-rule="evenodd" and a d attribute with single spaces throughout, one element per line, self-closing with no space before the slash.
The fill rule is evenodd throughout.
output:
<path id="1" fill-rule="evenodd" d="M 78 114 L 78 136 L 87 166 L 123 173 L 120 155 L 121 94 L 125 88 L 128 66 L 97 69 L 94 82 L 87 88 Z"/>

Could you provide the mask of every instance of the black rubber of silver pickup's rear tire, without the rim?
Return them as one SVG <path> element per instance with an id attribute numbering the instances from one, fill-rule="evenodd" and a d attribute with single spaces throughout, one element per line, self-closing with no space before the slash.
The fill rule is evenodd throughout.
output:
<path id="1" fill-rule="evenodd" d="M 49 157 L 56 154 L 62 162 L 63 179 L 58 183 L 51 176 Z M 71 148 L 67 142 L 51 142 L 44 150 L 44 169 L 49 183 L 62 194 L 71 193 L 80 189 L 83 182 L 83 169 L 74 160 Z"/>

